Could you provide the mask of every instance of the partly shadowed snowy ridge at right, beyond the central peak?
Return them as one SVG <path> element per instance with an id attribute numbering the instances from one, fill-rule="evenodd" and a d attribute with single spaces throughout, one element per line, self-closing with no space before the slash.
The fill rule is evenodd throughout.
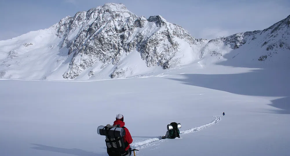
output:
<path id="1" fill-rule="evenodd" d="M 287 65 L 290 67 L 290 15 L 262 31 L 247 31 L 210 40 L 200 51 L 200 58 L 226 58 L 231 64 Z M 225 57 L 225 54 L 227 55 Z M 206 60 L 209 58 L 206 58 Z M 203 60 L 204 61 L 204 60 Z"/>

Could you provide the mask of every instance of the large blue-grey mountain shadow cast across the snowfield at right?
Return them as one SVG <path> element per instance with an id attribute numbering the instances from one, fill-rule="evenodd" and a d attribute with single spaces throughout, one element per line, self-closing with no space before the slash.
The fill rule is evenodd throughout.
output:
<path id="1" fill-rule="evenodd" d="M 290 114 L 290 66 L 272 68 L 275 64 L 267 64 L 267 62 L 258 60 L 250 63 L 238 63 L 232 57 L 235 53 L 237 52 L 224 55 L 227 60 L 217 64 L 259 69 L 235 74 L 183 74 L 182 76 L 185 77 L 183 79 L 169 79 L 180 81 L 186 85 L 216 89 L 234 94 L 278 97 L 278 99 L 271 101 L 268 105 L 281 110 L 271 110 L 270 112 Z"/>

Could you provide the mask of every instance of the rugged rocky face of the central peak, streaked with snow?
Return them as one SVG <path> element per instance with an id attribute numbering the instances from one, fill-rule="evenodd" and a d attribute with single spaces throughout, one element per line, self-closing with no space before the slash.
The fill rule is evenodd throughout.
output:
<path id="1" fill-rule="evenodd" d="M 68 71 L 63 74 L 71 79 L 96 63 L 115 65 L 134 50 L 148 67 L 158 65 L 166 69 L 180 48 L 176 38 L 191 46 L 198 42 L 181 26 L 160 15 L 137 17 L 123 4 L 113 3 L 66 17 L 56 28 L 57 35 L 64 37 L 62 47 L 67 46 L 68 55 L 73 55 Z"/>

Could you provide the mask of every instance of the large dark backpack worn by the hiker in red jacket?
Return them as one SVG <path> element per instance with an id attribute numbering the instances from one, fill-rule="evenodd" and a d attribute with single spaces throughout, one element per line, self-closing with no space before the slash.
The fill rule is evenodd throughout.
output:
<path id="1" fill-rule="evenodd" d="M 102 129 L 101 129 L 102 128 Z M 125 141 L 125 127 L 120 128 L 120 125 L 106 125 L 101 127 L 99 132 L 106 136 L 107 153 L 110 156 L 121 156 L 124 154 L 128 143 Z"/>

